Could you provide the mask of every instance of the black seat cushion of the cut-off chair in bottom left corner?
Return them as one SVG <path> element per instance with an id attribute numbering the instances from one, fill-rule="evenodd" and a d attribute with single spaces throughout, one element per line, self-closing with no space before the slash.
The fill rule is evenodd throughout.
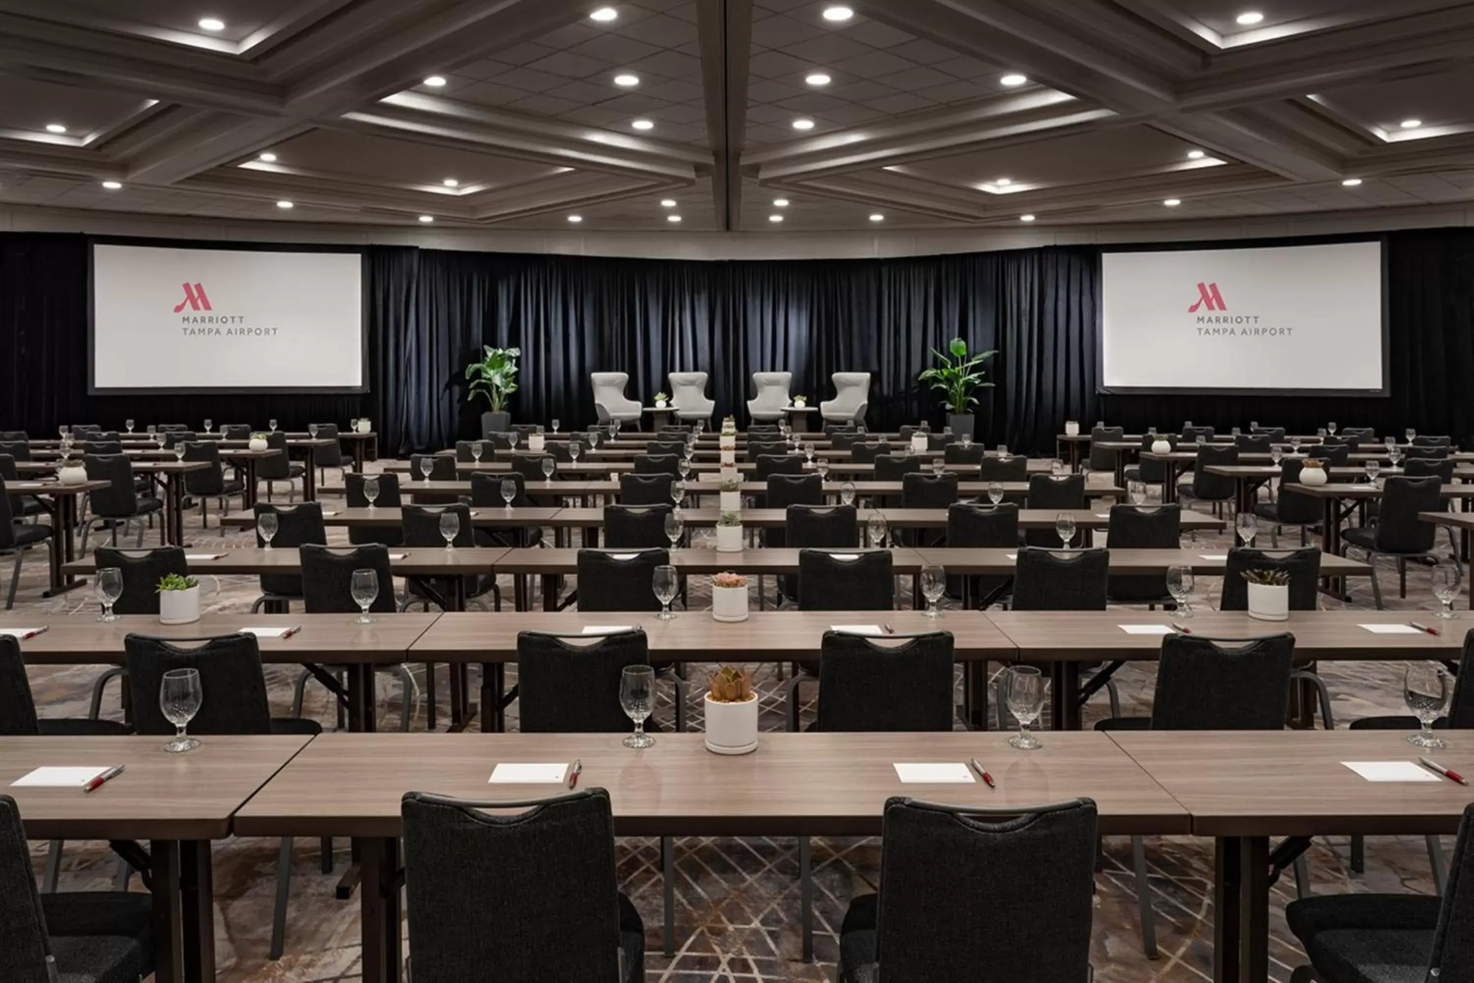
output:
<path id="1" fill-rule="evenodd" d="M 125 892 L 41 895 L 62 983 L 137 983 L 153 973 L 153 903 Z"/>

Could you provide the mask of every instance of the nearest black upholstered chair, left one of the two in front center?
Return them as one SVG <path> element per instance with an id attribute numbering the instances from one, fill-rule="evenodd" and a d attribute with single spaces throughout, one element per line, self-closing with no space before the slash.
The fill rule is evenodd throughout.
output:
<path id="1" fill-rule="evenodd" d="M 644 980 L 644 923 L 619 892 L 603 788 L 519 802 L 411 791 L 401 815 L 416 983 Z"/>

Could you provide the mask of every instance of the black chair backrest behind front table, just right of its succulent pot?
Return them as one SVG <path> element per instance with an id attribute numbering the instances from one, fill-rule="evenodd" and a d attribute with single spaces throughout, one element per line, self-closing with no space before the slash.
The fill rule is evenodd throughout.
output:
<path id="1" fill-rule="evenodd" d="M 824 632 L 814 730 L 952 730 L 952 632 L 921 632 L 896 641 L 895 635 L 880 641 Z"/>

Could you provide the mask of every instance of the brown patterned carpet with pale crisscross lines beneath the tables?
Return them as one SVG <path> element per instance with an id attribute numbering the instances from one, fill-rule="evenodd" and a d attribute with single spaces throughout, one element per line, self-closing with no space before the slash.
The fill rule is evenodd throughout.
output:
<path id="1" fill-rule="evenodd" d="M 327 492 L 332 494 L 330 491 Z M 326 497 L 326 495 L 324 495 Z M 214 514 L 214 510 L 212 510 Z M 221 532 L 214 517 L 208 531 L 199 531 L 195 513 L 187 528 L 195 545 L 202 548 L 243 548 L 249 545 L 240 531 Z M 343 531 L 329 531 L 335 541 L 345 541 Z M 150 541 L 156 532 L 150 534 Z M 696 545 L 715 547 L 712 532 L 697 534 Z M 1200 535 L 1198 545 L 1225 548 L 1226 536 Z M 1440 538 L 1440 547 L 1447 548 Z M 60 598 L 41 598 L 44 559 L 37 553 L 25 562 L 16 613 L 56 618 L 91 610 L 80 592 Z M 1390 607 L 1431 609 L 1434 600 L 1425 569 L 1409 575 L 1408 598 L 1396 597 L 1394 575 L 1384 573 Z M 1368 581 L 1353 581 L 1353 604 L 1371 607 Z M 1220 581 L 1200 578 L 1194 603 L 1216 606 Z M 205 603 L 215 612 L 246 612 L 258 590 L 251 578 L 209 578 Z M 503 584 L 510 598 L 510 578 Z M 700 590 L 690 606 L 708 606 Z M 902 601 L 909 606 L 909 597 Z M 1325 601 L 1327 606 L 1334 604 Z M 1459 606 L 1464 604 L 1461 600 Z M 693 679 L 705 679 L 710 666 L 690 666 Z M 1403 712 L 1402 668 L 1397 663 L 1322 663 L 1337 721 L 1372 713 Z M 99 669 L 35 668 L 31 671 L 37 704 L 46 716 L 81 716 L 87 712 L 91 682 Z M 268 666 L 273 710 L 290 710 L 295 671 Z M 413 666 L 417 690 L 423 691 L 423 668 Z M 442 676 L 438 693 L 448 691 Z M 473 671 L 475 674 L 475 671 Z M 783 682 L 774 666 L 755 666 L 762 694 L 765 730 L 783 730 Z M 1120 674 L 1120 694 L 1126 713 L 1147 713 L 1153 690 L 1151 666 L 1132 663 Z M 472 679 L 473 687 L 476 679 Z M 806 687 L 811 690 L 812 687 Z M 693 687 L 700 694 L 700 685 Z M 425 706 L 417 693 L 414 728 L 425 727 Z M 402 700 L 398 684 L 386 682 L 379 693 L 380 728 L 398 722 Z M 961 700 L 961 691 L 958 691 Z M 116 688 L 109 693 L 105 712 L 116 715 Z M 700 727 L 700 699 L 693 699 L 693 727 Z M 308 688 L 307 715 L 335 725 L 335 713 L 320 687 Z M 1106 715 L 1104 700 L 1086 707 L 1085 725 Z M 511 707 L 510 728 L 516 728 Z M 669 707 L 657 712 L 671 719 Z M 444 713 L 439 718 L 445 721 Z M 805 709 L 805 721 L 812 707 Z M 475 730 L 475 725 L 473 725 Z M 346 840 L 339 840 L 336 870 L 320 870 L 315 842 L 296 843 L 292 899 L 287 920 L 286 955 L 268 959 L 271 908 L 277 843 L 273 840 L 231 840 L 215 844 L 215 931 L 218 979 L 223 983 L 327 983 L 358 979 L 358 899 L 335 898 L 335 887 L 348 864 Z M 1452 847 L 1452 839 L 1445 840 Z M 44 844 L 32 844 L 40 875 Z M 1309 853 L 1313 890 L 1343 892 L 1418 892 L 1431 893 L 1433 883 L 1421 837 L 1378 837 L 1368 842 L 1366 872 L 1352 874 L 1344 839 L 1318 842 Z M 1191 837 L 1148 837 L 1147 859 L 1156 890 L 1157 940 L 1162 958 L 1147 959 L 1141 952 L 1136 920 L 1135 884 L 1131 875 L 1131 849 L 1123 837 L 1106 842 L 1106 856 L 1097 875 L 1094 955 L 1095 979 L 1103 983 L 1178 983 L 1212 979 L 1212 843 Z M 644 917 L 647 933 L 647 980 L 653 983 L 778 983 L 833 980 L 837 930 L 850 898 L 876 889 L 880 861 L 879 839 L 830 839 L 814 842 L 815 865 L 815 962 L 805 964 L 799 954 L 799 881 L 797 847 L 790 840 L 768 839 L 682 839 L 677 840 L 677 952 L 660 954 L 662 877 L 657 844 L 653 840 L 621 840 L 618 862 L 625 890 Z M 62 867 L 62 890 L 103 889 L 112 881 L 115 859 L 102 843 L 68 843 Z M 1288 878 L 1287 878 L 1288 880 Z M 136 881 L 134 881 L 136 883 Z M 1284 926 L 1284 903 L 1293 896 L 1293 881 L 1281 883 L 1271 902 L 1271 976 L 1288 980 L 1302 954 Z"/>

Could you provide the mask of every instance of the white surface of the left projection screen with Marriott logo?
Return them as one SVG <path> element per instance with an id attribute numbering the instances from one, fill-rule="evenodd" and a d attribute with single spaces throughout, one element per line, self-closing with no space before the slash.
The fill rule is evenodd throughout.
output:
<path id="1" fill-rule="evenodd" d="M 93 243 L 91 392 L 363 392 L 363 256 Z"/>

